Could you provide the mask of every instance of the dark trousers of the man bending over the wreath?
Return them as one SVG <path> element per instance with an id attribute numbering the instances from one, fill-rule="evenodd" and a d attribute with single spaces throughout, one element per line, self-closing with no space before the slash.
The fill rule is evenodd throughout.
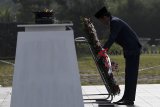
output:
<path id="1" fill-rule="evenodd" d="M 125 91 L 123 99 L 135 101 L 140 54 L 125 55 Z"/>

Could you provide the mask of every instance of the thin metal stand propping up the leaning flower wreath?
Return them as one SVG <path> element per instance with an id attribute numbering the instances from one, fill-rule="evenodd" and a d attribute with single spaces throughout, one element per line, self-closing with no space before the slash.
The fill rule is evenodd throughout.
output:
<path id="1" fill-rule="evenodd" d="M 111 93 L 111 89 L 108 86 L 109 81 L 107 80 L 106 73 L 100 66 L 98 66 L 99 60 L 96 57 L 96 55 L 93 53 L 93 50 L 94 50 L 93 47 L 89 44 L 88 40 L 85 37 L 78 37 L 75 39 L 75 42 L 76 43 L 86 43 L 88 45 L 92 58 L 96 64 L 97 70 L 99 71 L 100 77 L 106 87 L 106 90 L 108 91 L 108 93 L 106 94 L 85 94 L 83 96 L 106 96 L 106 97 L 103 99 L 100 99 L 100 98 L 99 99 L 89 99 L 89 98 L 83 99 L 84 103 L 92 103 L 92 104 L 96 103 L 99 105 L 99 107 L 104 107 L 104 106 L 114 107 L 114 104 L 111 103 L 114 95 Z"/>

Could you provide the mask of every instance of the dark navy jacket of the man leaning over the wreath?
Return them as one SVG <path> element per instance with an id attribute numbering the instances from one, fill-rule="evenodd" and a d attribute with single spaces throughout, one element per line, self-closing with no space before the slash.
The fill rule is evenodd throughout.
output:
<path id="1" fill-rule="evenodd" d="M 117 17 L 111 18 L 110 36 L 103 48 L 109 49 L 114 42 L 122 46 L 124 54 L 140 53 L 142 47 L 135 31 L 126 22 Z"/>

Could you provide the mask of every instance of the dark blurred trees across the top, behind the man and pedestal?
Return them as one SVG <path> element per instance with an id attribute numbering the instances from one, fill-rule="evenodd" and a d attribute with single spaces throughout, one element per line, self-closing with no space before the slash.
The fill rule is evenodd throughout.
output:
<path id="1" fill-rule="evenodd" d="M 55 18 L 72 21 L 75 36 L 83 35 L 80 17 L 91 17 L 99 36 L 105 28 L 93 17 L 102 6 L 128 22 L 141 37 L 160 36 L 160 0 L 0 0 L 0 22 L 34 23 L 34 11 L 53 9 Z"/>

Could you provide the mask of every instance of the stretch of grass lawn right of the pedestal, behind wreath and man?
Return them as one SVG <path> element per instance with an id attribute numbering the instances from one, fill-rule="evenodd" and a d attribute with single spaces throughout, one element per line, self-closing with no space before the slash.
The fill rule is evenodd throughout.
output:
<path id="1" fill-rule="evenodd" d="M 110 56 L 111 60 L 118 62 L 119 72 L 114 73 L 115 78 L 119 84 L 124 83 L 124 67 L 125 61 L 122 55 L 119 56 Z M 80 56 L 78 57 L 81 82 L 83 85 L 88 84 L 103 84 L 99 74 L 97 72 L 95 63 L 92 60 L 91 56 Z M 140 57 L 140 71 L 138 83 L 148 84 L 148 83 L 160 83 L 160 54 L 149 54 L 141 55 Z M 146 69 L 153 67 L 152 69 Z M 146 70 L 141 70 L 146 69 Z"/>

